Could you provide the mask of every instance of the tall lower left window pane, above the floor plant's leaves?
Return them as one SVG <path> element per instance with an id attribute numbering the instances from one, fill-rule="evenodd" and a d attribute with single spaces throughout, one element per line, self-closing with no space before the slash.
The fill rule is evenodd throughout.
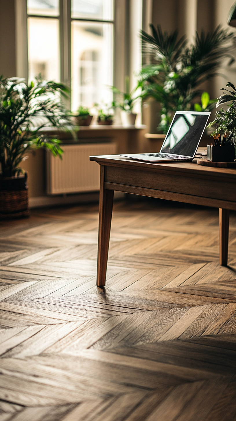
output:
<path id="1" fill-rule="evenodd" d="M 28 18 L 29 81 L 60 80 L 58 19 Z"/>

